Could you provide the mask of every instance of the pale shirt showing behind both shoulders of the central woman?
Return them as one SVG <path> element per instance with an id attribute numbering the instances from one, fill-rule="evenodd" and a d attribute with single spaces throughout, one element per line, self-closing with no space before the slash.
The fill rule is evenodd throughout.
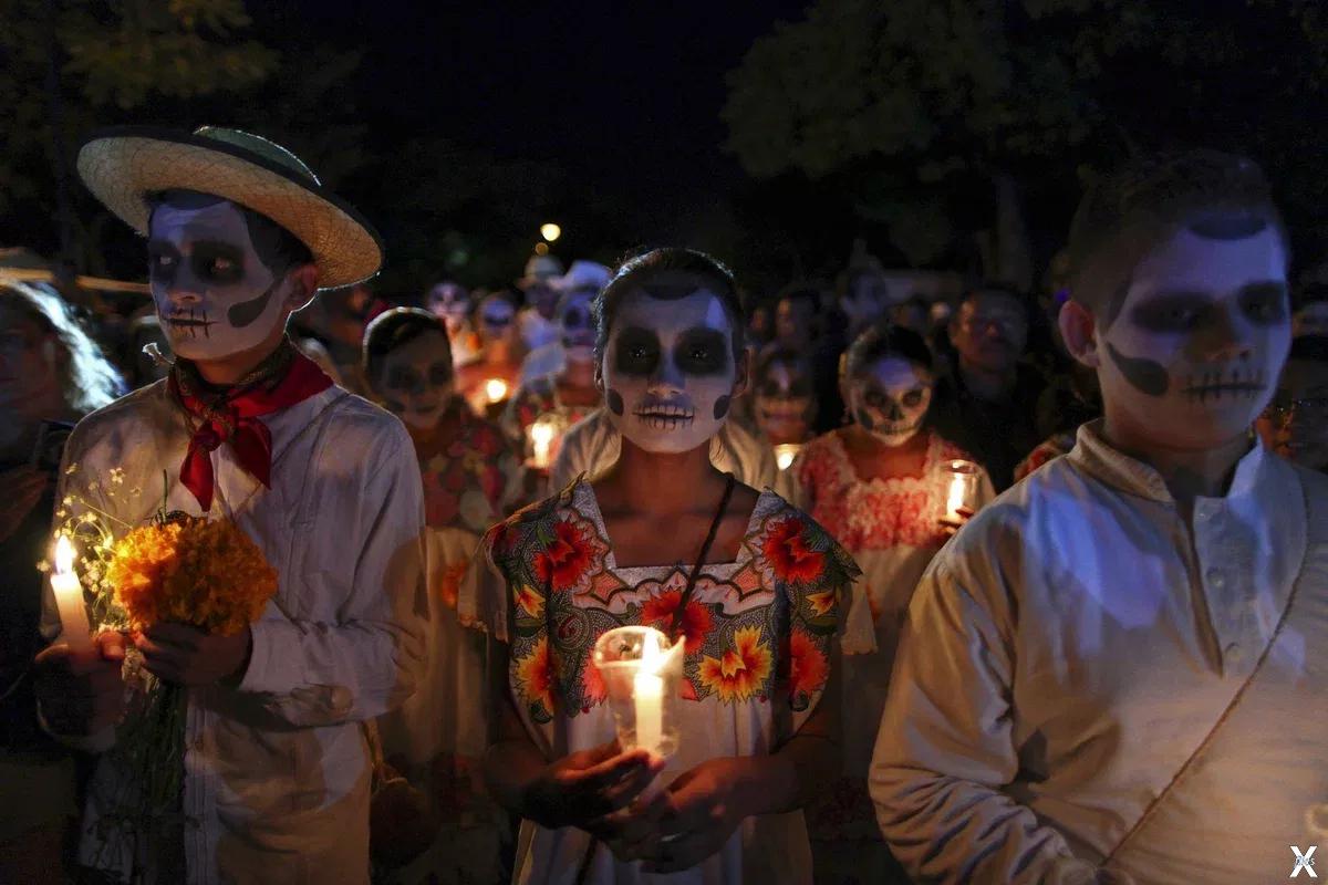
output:
<path id="1" fill-rule="evenodd" d="M 608 413 L 596 409 L 563 435 L 548 474 L 550 492 L 562 491 L 582 474 L 587 479 L 598 476 L 618 463 L 622 452 L 622 434 L 608 419 Z M 710 438 L 710 463 L 757 490 L 773 487 L 780 476 L 774 448 L 734 421 L 724 422 L 720 433 Z"/>

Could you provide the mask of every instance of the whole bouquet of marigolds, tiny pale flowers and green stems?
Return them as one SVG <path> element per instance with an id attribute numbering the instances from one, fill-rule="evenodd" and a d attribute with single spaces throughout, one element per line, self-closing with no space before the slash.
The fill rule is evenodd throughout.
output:
<path id="1" fill-rule="evenodd" d="M 118 486 L 122 476 L 113 474 L 112 483 Z M 80 512 L 70 516 L 69 510 Z M 235 636 L 276 593 L 276 569 L 231 520 L 166 512 L 162 506 L 146 524 L 133 527 L 77 496 L 66 498 L 58 515 L 65 520 L 60 532 L 84 551 L 82 586 L 96 632 L 133 634 L 173 622 Z M 120 537 L 110 523 L 118 523 Z M 146 840 L 173 832 L 171 824 L 183 820 L 187 689 L 147 673 L 133 651 L 125 675 L 141 691 L 117 728 L 110 759 L 118 795 L 106 797 L 98 827 L 104 849 L 127 849 L 137 865 Z"/>

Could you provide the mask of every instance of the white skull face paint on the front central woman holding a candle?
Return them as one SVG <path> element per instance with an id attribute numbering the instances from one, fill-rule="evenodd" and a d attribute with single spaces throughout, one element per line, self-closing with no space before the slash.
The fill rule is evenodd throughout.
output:
<path id="1" fill-rule="evenodd" d="M 733 326 L 717 295 L 691 277 L 656 299 L 660 275 L 628 291 L 610 329 L 604 399 L 614 426 L 649 452 L 692 451 L 717 434 L 736 394 Z"/>

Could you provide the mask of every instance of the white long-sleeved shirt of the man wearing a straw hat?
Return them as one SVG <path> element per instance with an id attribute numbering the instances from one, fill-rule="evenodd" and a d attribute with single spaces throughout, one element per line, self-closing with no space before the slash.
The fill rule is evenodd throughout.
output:
<path id="1" fill-rule="evenodd" d="M 189 691 L 183 808 L 201 824 L 185 828 L 189 882 L 367 882 L 361 723 L 409 697 L 422 661 L 420 468 L 394 417 L 336 386 L 262 421 L 272 434 L 271 490 L 228 444 L 211 455 L 211 516 L 232 515 L 258 544 L 278 571 L 278 594 L 252 625 L 239 687 Z M 198 513 L 178 480 L 187 444 L 185 413 L 159 381 L 78 423 L 60 495 L 137 525 L 161 504 L 165 471 L 166 507 Z M 114 467 L 125 479 L 108 496 Z M 48 592 L 48 636 L 58 632 L 54 612 Z M 110 776 L 104 763 L 97 782 Z M 97 795 L 85 862 L 98 845 Z"/>

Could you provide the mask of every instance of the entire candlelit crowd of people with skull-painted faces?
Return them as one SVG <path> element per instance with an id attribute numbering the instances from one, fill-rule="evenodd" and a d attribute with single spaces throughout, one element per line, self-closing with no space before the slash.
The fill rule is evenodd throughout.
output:
<path id="1" fill-rule="evenodd" d="M 1045 293 L 935 301 L 673 247 L 389 297 L 271 142 L 80 174 L 153 304 L 0 275 L 0 881 L 1244 882 L 1328 839 L 1328 336 L 1250 161 L 1135 161 Z M 97 478 L 163 471 L 278 596 L 73 650 L 57 511 L 139 524 Z M 667 758 L 623 625 L 684 644 Z M 146 674 L 186 823 L 108 852 Z"/>

